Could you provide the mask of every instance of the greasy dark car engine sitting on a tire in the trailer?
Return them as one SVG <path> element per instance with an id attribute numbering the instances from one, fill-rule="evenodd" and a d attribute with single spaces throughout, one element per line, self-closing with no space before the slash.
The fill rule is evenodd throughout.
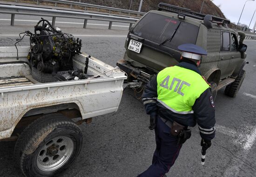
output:
<path id="1" fill-rule="evenodd" d="M 72 58 L 81 53 L 81 39 L 61 32 L 45 19 L 35 25 L 30 46 L 31 65 L 44 73 L 73 70 Z"/>

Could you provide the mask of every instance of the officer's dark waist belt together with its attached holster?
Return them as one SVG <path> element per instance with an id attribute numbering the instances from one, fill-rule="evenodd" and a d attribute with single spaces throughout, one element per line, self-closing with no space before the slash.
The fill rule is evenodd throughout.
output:
<path id="1" fill-rule="evenodd" d="M 187 129 L 186 126 L 182 126 L 181 124 L 177 122 L 171 122 L 169 120 L 166 120 L 162 117 L 160 117 L 162 121 L 171 129 L 171 135 L 178 137 L 178 145 L 182 145 L 186 142 L 187 139 L 191 136 L 191 130 Z"/>

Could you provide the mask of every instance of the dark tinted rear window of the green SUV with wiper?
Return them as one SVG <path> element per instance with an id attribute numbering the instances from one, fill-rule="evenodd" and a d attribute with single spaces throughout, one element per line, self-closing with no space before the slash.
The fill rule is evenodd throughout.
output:
<path id="1" fill-rule="evenodd" d="M 195 44 L 199 27 L 156 13 L 148 13 L 135 26 L 133 33 L 158 44 L 177 49 L 180 44 Z M 174 35 L 172 37 L 172 35 Z"/>

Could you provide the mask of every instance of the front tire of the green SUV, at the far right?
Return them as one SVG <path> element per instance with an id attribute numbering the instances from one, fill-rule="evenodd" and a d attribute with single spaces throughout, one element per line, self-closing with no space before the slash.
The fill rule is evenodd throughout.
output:
<path id="1" fill-rule="evenodd" d="M 245 70 L 242 70 L 241 73 L 236 77 L 236 80 L 226 86 L 224 91 L 225 95 L 228 95 L 230 97 L 236 97 L 236 94 L 243 83 L 245 73 Z"/>

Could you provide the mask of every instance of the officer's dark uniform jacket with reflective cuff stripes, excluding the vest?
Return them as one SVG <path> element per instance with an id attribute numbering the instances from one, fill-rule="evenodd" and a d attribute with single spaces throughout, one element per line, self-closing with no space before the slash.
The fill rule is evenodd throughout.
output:
<path id="1" fill-rule="evenodd" d="M 181 62 L 177 66 L 193 70 L 202 75 L 197 66 L 191 61 Z M 164 107 L 157 101 L 157 81 L 153 76 L 145 86 L 142 101 L 145 105 L 147 114 L 155 116 L 160 115 L 162 118 L 171 122 L 176 121 L 184 126 L 195 126 L 198 124 L 202 139 L 211 140 L 215 137 L 215 106 L 211 95 L 210 88 L 206 89 L 195 101 L 192 107 L 194 114 L 177 114 Z"/>

